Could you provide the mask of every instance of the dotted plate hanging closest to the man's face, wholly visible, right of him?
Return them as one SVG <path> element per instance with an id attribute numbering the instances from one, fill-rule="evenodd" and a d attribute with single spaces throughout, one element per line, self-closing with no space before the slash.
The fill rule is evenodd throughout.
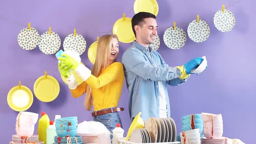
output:
<path id="1" fill-rule="evenodd" d="M 180 27 L 170 27 L 164 32 L 164 43 L 168 48 L 181 49 L 187 41 L 186 33 Z"/>

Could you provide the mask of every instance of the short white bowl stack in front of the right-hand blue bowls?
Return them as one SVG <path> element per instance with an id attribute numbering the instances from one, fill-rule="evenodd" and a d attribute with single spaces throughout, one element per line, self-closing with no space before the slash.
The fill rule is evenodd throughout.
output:
<path id="1" fill-rule="evenodd" d="M 200 144 L 201 138 L 199 129 L 182 131 L 181 133 L 181 144 Z"/>

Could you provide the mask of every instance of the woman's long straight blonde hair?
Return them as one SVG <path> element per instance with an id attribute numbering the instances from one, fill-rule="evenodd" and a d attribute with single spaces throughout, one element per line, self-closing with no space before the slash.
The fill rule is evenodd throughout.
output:
<path id="1" fill-rule="evenodd" d="M 117 35 L 104 35 L 98 39 L 98 46 L 96 50 L 96 58 L 94 65 L 92 67 L 92 75 L 98 77 L 101 69 L 105 69 L 108 66 L 108 59 L 111 55 L 112 50 L 112 39 L 116 38 Z M 116 59 L 115 59 L 116 61 Z M 85 108 L 90 111 L 92 108 L 92 87 L 87 85 L 86 95 L 85 95 Z"/>

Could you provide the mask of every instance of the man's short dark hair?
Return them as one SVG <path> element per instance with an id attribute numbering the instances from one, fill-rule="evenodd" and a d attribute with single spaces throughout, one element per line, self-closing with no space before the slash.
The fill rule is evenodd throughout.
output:
<path id="1" fill-rule="evenodd" d="M 154 19 L 156 19 L 157 17 L 154 14 L 147 13 L 147 12 L 139 12 L 139 13 L 135 14 L 132 17 L 132 19 L 131 19 L 131 27 L 132 27 L 133 33 L 135 34 L 135 37 L 136 37 L 136 32 L 135 32 L 134 26 L 135 25 L 142 26 L 143 22 L 144 22 L 144 19 L 146 19 L 146 18 L 154 18 Z"/>

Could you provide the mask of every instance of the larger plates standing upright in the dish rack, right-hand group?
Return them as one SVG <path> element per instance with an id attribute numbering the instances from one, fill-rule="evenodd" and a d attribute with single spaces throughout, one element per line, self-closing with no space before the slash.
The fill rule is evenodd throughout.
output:
<path id="1" fill-rule="evenodd" d="M 176 125 L 172 118 L 148 118 L 144 128 L 150 134 L 151 143 L 176 140 Z"/>

